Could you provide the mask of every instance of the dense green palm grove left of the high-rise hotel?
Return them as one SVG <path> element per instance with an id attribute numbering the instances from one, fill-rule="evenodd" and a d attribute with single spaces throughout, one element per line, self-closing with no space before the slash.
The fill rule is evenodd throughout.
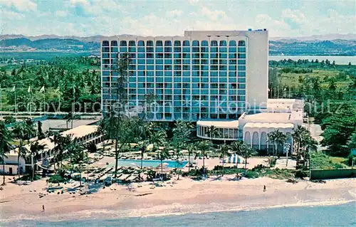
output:
<path id="1" fill-rule="evenodd" d="M 3 111 L 14 111 L 16 103 L 19 111 L 28 110 L 31 87 L 32 110 L 42 111 L 43 100 L 46 110 L 70 111 L 73 100 L 80 103 L 75 111 L 99 111 L 100 102 L 100 60 L 98 58 L 53 58 L 50 61 L 6 65 L 0 68 Z M 44 86 L 44 93 L 41 88 Z M 45 97 L 43 97 L 45 95 Z M 86 103 L 86 105 L 85 105 Z M 80 110 L 79 110 L 80 109 Z"/>

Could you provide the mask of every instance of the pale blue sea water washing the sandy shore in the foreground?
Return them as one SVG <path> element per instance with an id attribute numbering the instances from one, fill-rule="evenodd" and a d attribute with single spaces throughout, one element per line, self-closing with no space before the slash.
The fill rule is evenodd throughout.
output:
<path id="1" fill-rule="evenodd" d="M 78 221 L 17 221 L 9 226 L 356 226 L 356 204 Z"/>

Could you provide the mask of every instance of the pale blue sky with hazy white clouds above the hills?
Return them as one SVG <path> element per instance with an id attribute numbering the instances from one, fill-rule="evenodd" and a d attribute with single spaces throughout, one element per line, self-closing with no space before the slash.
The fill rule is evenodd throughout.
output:
<path id="1" fill-rule="evenodd" d="M 355 0 L 0 0 L 1 34 L 182 36 L 267 28 L 271 37 L 356 33 Z"/>

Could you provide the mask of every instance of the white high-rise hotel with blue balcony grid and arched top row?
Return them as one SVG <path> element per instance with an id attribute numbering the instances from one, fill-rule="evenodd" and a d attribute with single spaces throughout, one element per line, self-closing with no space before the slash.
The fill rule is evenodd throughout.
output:
<path id="1" fill-rule="evenodd" d="M 147 95 L 155 121 L 236 120 L 268 98 L 268 31 L 185 31 L 184 36 L 115 36 L 101 42 L 103 112 L 117 100 L 117 61 L 130 57 L 129 110 Z"/>

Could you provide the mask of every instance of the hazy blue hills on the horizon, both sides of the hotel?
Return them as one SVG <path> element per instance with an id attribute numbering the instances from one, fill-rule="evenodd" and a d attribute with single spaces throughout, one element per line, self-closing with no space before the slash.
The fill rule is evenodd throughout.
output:
<path id="1" fill-rule="evenodd" d="M 337 38 L 338 37 L 338 38 Z M 352 38 L 353 37 L 353 38 Z M 100 39 L 105 36 L 0 36 L 0 51 L 58 51 L 66 53 L 100 52 Z M 313 39 L 314 38 L 314 39 Z M 327 40 L 326 38 L 337 38 Z M 340 39 L 341 38 L 341 39 Z M 301 38 L 271 38 L 270 55 L 286 56 L 356 56 L 355 35 L 330 34 Z"/>

